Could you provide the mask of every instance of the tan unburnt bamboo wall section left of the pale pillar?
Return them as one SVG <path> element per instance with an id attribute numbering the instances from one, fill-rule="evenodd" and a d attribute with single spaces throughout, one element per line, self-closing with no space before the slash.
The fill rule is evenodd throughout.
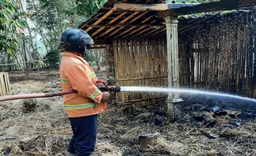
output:
<path id="1" fill-rule="evenodd" d="M 130 39 L 113 41 L 115 80 L 121 86 L 167 86 L 166 39 Z M 120 92 L 117 103 L 145 106 L 158 103 L 167 94 Z"/>

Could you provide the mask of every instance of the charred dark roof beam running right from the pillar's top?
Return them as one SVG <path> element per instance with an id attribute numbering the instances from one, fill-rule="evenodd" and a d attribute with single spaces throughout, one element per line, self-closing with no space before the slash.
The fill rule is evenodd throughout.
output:
<path id="1" fill-rule="evenodd" d="M 239 7 L 249 7 L 254 5 L 256 5 L 256 0 L 222 0 L 219 2 L 207 2 L 203 4 L 198 4 L 192 7 L 181 7 L 166 11 L 159 11 L 158 17 L 164 18 L 167 16 L 181 16 L 194 13 L 201 13 L 205 11 L 235 10 Z"/>

